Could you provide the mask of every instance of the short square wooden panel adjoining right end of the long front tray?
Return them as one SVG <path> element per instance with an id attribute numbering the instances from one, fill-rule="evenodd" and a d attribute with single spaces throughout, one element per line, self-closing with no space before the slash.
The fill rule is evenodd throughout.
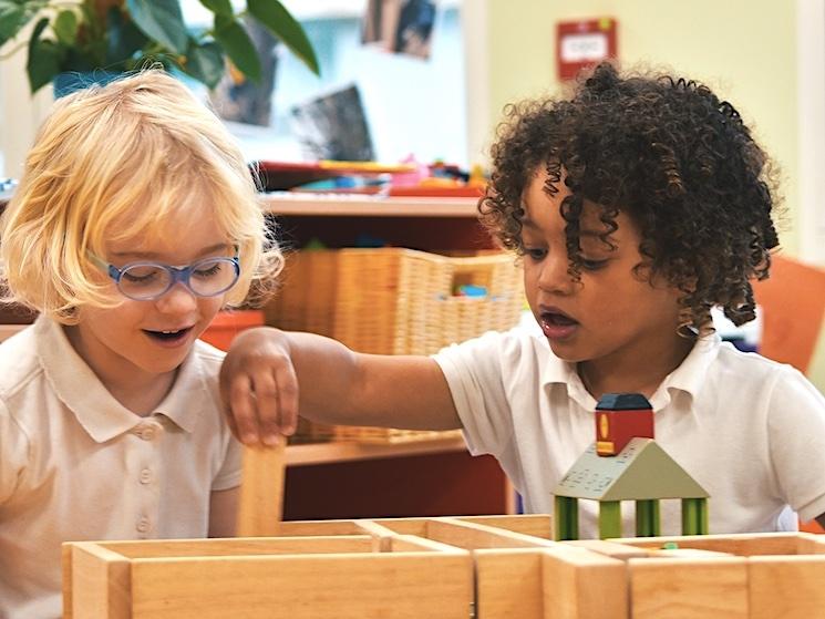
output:
<path id="1" fill-rule="evenodd" d="M 478 550 L 474 553 L 476 617 L 479 619 L 543 619 L 542 550 Z"/>

